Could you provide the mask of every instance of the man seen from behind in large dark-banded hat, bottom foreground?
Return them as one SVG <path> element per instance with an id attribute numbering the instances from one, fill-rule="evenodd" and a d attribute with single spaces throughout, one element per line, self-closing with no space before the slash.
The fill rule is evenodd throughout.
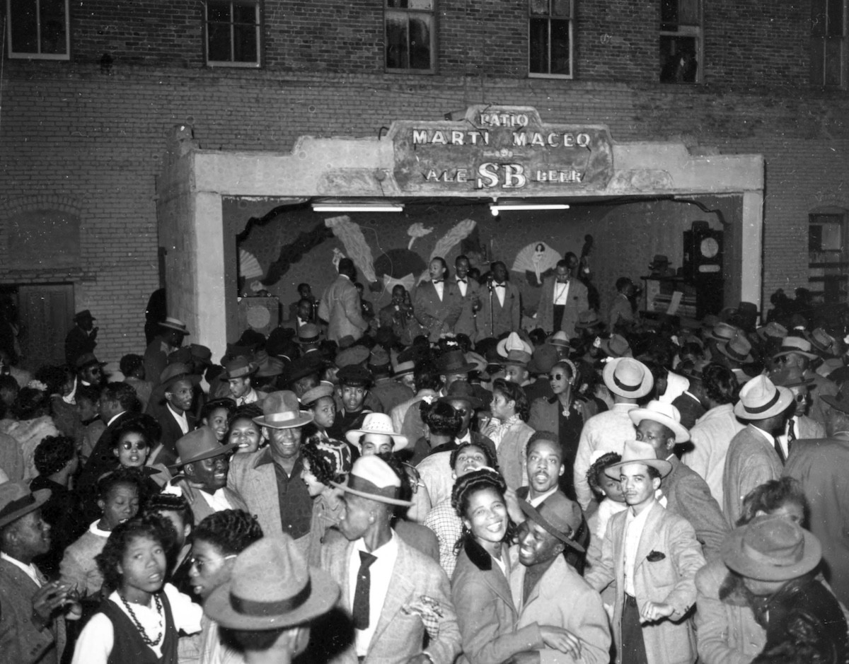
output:
<path id="1" fill-rule="evenodd" d="M 306 650 L 311 624 L 331 611 L 339 594 L 329 574 L 306 565 L 291 537 L 262 537 L 236 556 L 229 580 L 204 610 L 247 664 L 289 664 Z"/>

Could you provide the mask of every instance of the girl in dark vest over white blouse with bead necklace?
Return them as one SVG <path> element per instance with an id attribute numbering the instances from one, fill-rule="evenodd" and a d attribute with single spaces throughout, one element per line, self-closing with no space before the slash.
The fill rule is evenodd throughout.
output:
<path id="1" fill-rule="evenodd" d="M 199 632 L 203 611 L 166 583 L 167 539 L 155 515 L 115 528 L 97 558 L 115 591 L 82 628 L 72 664 L 177 664 L 177 632 Z"/>

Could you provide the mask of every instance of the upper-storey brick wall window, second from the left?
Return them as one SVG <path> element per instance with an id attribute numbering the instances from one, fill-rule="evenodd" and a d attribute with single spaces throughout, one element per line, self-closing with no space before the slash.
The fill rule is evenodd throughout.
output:
<path id="1" fill-rule="evenodd" d="M 206 64 L 226 67 L 260 65 L 260 5 L 240 0 L 206 3 Z"/>

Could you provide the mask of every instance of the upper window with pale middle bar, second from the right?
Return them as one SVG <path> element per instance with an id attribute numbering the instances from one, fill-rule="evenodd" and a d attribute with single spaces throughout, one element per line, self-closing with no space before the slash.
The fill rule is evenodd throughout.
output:
<path id="1" fill-rule="evenodd" d="M 661 83 L 701 81 L 700 0 L 661 0 Z"/>

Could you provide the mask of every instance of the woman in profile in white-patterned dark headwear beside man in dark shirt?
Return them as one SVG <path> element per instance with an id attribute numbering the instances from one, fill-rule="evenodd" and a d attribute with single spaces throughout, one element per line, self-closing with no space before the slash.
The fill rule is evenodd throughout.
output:
<path id="1" fill-rule="evenodd" d="M 307 562 L 318 566 L 324 534 L 339 523 L 345 507 L 340 491 L 331 485 L 346 481 L 351 472 L 351 447 L 344 442 L 324 441 L 312 436 L 301 447 L 303 470 L 301 479 L 312 498 L 312 523 Z"/>

